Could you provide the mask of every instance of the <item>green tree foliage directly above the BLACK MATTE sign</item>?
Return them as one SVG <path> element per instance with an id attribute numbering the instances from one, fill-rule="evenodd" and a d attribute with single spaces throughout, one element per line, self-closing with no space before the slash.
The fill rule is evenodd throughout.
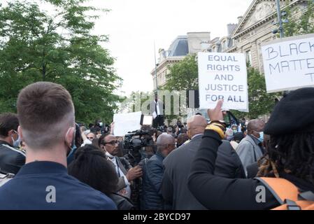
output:
<path id="1" fill-rule="evenodd" d="M 314 33 L 314 3 L 307 1 L 306 8 L 288 7 L 287 12 L 288 22 L 283 23 L 285 36 L 295 36 L 301 34 Z"/>

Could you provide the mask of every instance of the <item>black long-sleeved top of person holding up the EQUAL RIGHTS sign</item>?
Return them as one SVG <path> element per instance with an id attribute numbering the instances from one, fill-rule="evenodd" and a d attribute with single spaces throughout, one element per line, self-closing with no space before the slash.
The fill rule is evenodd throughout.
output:
<path id="1" fill-rule="evenodd" d="M 208 209 L 272 209 L 280 204 L 265 188 L 265 202 L 257 202 L 258 186 L 263 183 L 256 179 L 226 179 L 214 174 L 218 146 L 222 143 L 213 130 L 206 130 L 199 151 L 192 162 L 188 186 L 194 197 Z M 312 190 L 307 181 L 289 174 L 281 178 L 294 183 L 301 190 Z"/>

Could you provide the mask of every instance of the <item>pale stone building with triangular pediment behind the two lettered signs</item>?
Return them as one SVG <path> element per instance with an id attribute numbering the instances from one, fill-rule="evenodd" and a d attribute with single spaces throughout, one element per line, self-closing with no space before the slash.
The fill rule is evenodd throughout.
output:
<path id="1" fill-rule="evenodd" d="M 280 0 L 281 10 L 287 7 L 298 7 L 299 12 L 306 8 L 307 1 Z M 297 15 L 294 15 L 297 18 Z M 238 24 L 232 34 L 220 38 L 215 44 L 211 44 L 208 51 L 213 52 L 242 52 L 245 53 L 247 62 L 251 66 L 264 72 L 261 44 L 278 38 L 273 30 L 278 25 L 276 0 L 254 0 L 243 16 L 238 18 Z M 227 48 L 224 46 L 227 44 Z M 216 50 L 217 49 L 217 50 Z"/>

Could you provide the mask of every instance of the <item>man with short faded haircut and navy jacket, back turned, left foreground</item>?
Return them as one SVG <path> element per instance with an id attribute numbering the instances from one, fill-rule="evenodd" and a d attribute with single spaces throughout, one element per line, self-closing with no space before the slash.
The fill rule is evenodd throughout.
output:
<path id="1" fill-rule="evenodd" d="M 76 127 L 71 95 L 62 85 L 24 87 L 17 97 L 17 115 L 26 164 L 1 186 L 0 209 L 116 209 L 106 195 L 67 173 L 66 155 Z"/>

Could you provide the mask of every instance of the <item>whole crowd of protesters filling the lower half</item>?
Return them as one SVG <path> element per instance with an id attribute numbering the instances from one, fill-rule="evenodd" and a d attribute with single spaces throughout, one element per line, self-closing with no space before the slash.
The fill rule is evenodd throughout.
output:
<path id="1" fill-rule="evenodd" d="M 169 127 L 156 97 L 162 126 L 128 139 L 114 123 L 75 123 L 64 87 L 33 83 L 0 115 L 0 209 L 313 209 L 313 96 L 290 92 L 266 124 L 226 124 L 220 100 L 209 122 Z"/>

